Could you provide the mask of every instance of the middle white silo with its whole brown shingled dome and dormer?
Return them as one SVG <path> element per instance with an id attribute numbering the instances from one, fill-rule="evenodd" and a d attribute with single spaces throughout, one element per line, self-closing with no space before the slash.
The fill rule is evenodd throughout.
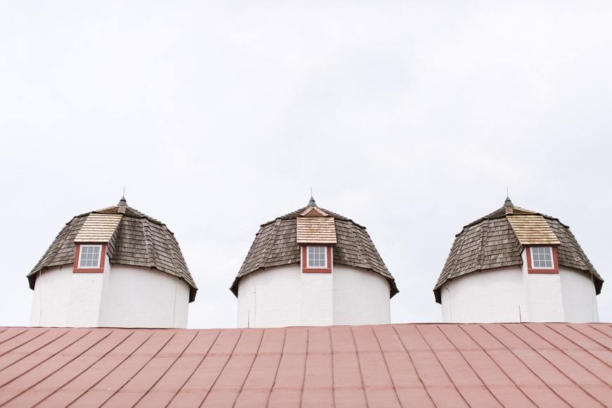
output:
<path id="1" fill-rule="evenodd" d="M 388 324 L 398 292 L 366 228 L 312 197 L 262 224 L 230 289 L 238 327 Z"/>

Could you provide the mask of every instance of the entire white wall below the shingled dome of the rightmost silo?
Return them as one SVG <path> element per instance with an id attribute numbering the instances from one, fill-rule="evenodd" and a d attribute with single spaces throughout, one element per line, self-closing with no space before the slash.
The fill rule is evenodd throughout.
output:
<path id="1" fill-rule="evenodd" d="M 521 267 L 473 272 L 447 281 L 440 291 L 442 321 L 599 321 L 589 274 L 569 268 L 560 268 L 559 274 L 528 274 L 525 253 Z"/>

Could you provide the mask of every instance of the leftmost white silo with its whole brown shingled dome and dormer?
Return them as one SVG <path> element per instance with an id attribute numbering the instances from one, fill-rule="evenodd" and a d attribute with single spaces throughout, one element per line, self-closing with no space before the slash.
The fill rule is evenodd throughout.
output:
<path id="1" fill-rule="evenodd" d="M 125 197 L 72 218 L 27 279 L 31 326 L 186 327 L 198 290 L 172 231 Z"/>

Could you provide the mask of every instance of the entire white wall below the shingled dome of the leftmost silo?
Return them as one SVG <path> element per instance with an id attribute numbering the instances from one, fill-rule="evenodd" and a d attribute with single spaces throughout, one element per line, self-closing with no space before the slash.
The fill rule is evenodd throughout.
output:
<path id="1" fill-rule="evenodd" d="M 37 277 L 30 326 L 186 327 L 189 286 L 155 269 L 111 265 L 73 273 L 72 265 Z"/>

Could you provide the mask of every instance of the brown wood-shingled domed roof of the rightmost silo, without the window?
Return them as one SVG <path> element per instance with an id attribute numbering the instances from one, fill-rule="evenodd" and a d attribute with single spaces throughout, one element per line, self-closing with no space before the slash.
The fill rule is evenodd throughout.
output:
<path id="1" fill-rule="evenodd" d="M 502 208 L 476 219 L 457 234 L 433 288 L 435 301 L 440 303 L 440 290 L 446 281 L 485 269 L 523 264 L 521 253 L 528 245 L 556 246 L 559 265 L 591 274 L 599 295 L 604 279 L 570 228 L 549 215 L 516 207 L 506 198 Z"/>

